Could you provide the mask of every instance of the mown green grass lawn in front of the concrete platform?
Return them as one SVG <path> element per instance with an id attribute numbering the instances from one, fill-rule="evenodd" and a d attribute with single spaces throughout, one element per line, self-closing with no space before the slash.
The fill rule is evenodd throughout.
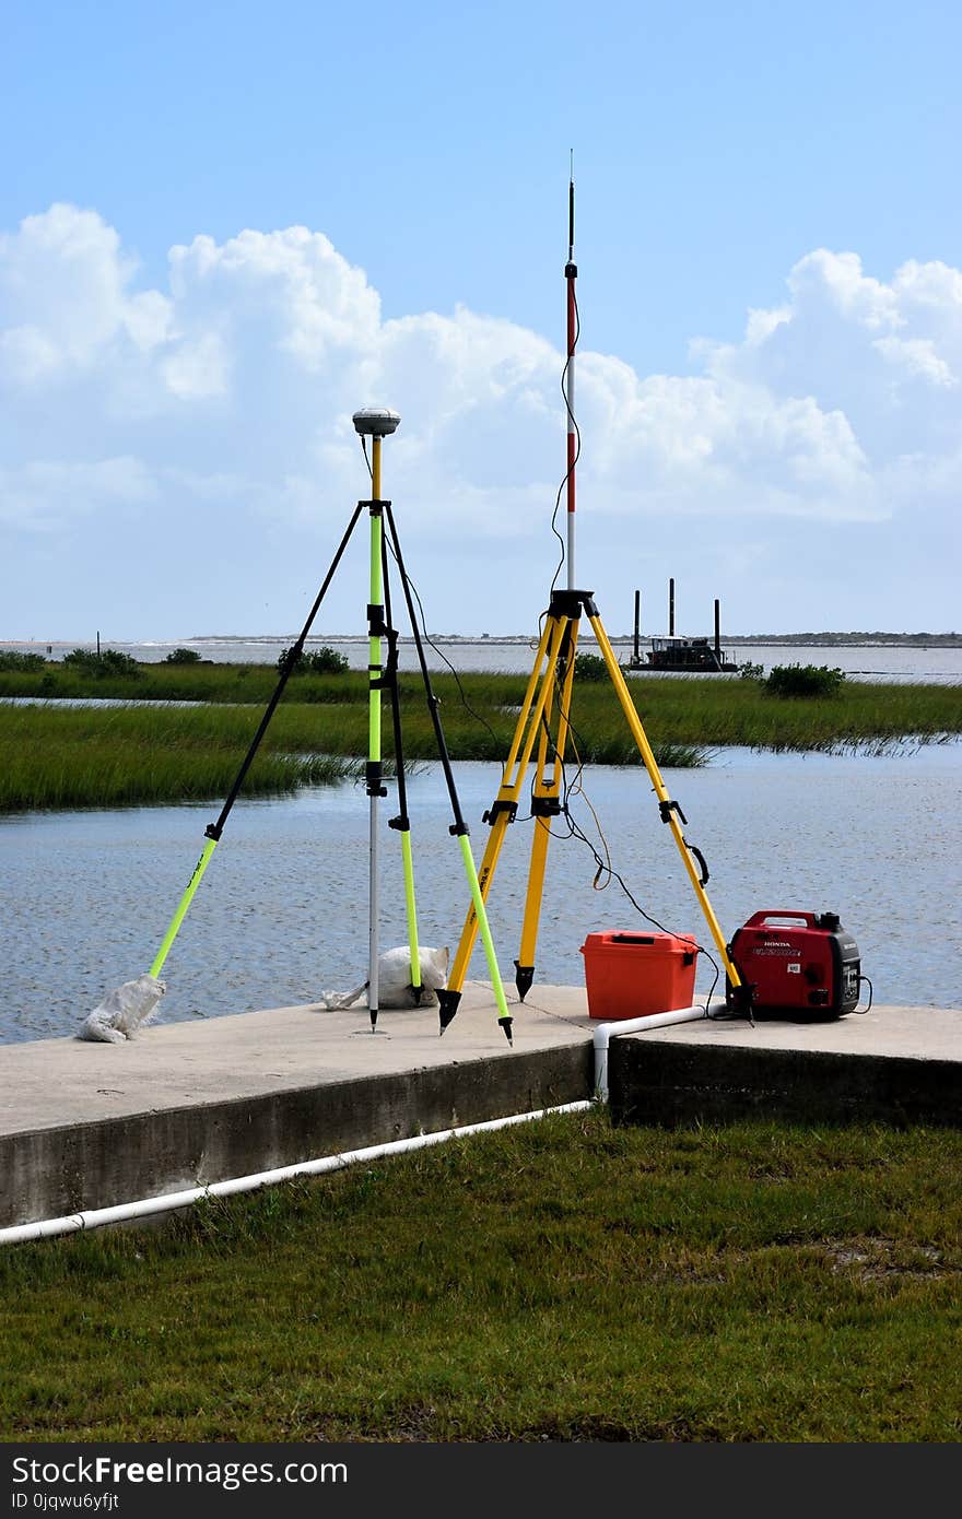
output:
<path id="1" fill-rule="evenodd" d="M 956 1442 L 959 1130 L 603 1110 L 0 1255 L 5 1440 Z"/>

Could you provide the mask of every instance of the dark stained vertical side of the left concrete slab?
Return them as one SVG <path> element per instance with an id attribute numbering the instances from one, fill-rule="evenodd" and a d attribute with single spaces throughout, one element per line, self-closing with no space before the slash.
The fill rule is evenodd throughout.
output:
<path id="1" fill-rule="evenodd" d="M 591 1044 L 0 1136 L 0 1227 L 593 1095 Z"/>

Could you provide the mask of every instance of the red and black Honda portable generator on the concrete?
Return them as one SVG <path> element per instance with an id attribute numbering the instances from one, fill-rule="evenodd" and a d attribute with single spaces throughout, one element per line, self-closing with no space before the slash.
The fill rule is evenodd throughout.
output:
<path id="1" fill-rule="evenodd" d="M 837 913 L 752 913 L 728 954 L 751 987 L 755 1012 L 840 1018 L 859 1004 L 859 946 Z M 725 1001 L 736 1004 L 728 981 Z"/>

